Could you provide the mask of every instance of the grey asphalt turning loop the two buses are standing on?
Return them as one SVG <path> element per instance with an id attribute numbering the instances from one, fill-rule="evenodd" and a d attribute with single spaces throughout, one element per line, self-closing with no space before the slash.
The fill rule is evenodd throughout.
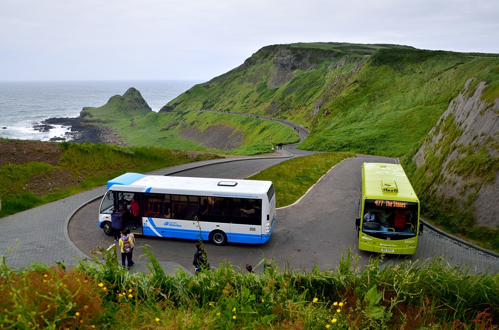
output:
<path id="1" fill-rule="evenodd" d="M 293 147 L 290 147 L 293 148 Z M 287 149 L 287 148 L 286 148 Z M 303 156 L 307 152 L 298 152 Z M 285 152 L 284 152 L 285 154 Z M 283 158 L 220 163 L 176 172 L 178 176 L 202 176 L 244 178 Z M 280 269 L 289 268 L 310 271 L 336 269 L 343 253 L 352 248 L 365 265 L 373 254 L 356 248 L 357 231 L 355 217 L 358 214 L 361 164 L 364 162 L 395 163 L 396 160 L 359 155 L 344 160 L 326 174 L 306 195 L 291 206 L 277 209 L 277 222 L 270 240 L 261 245 L 230 244 L 206 245 L 209 262 L 218 266 L 229 262 L 233 267 L 244 269 L 246 264 L 256 266 L 263 258 L 273 259 Z M 278 198 L 278 196 L 277 196 Z M 68 234 L 81 251 L 89 251 L 97 245 L 107 247 L 112 237 L 97 227 L 100 200 L 80 208 L 70 219 Z M 91 237 L 91 239 L 89 239 Z M 192 259 L 195 241 L 136 236 L 134 260 L 145 260 L 141 246 L 149 245 L 160 262 L 175 262 L 186 269 L 193 269 Z M 404 258 L 411 261 L 426 260 L 433 255 L 443 256 L 449 265 L 467 265 L 472 271 L 499 271 L 499 258 L 466 246 L 456 240 L 425 228 L 415 255 L 409 257 L 387 256 L 384 263 L 398 263 Z M 140 257 L 139 257 L 140 256 Z M 262 271 L 260 264 L 255 271 Z"/>

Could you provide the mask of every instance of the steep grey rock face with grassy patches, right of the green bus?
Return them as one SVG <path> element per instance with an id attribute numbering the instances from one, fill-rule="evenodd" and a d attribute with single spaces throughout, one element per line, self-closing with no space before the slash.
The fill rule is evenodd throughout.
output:
<path id="1" fill-rule="evenodd" d="M 499 99 L 482 99 L 484 81 L 468 79 L 413 161 L 415 180 L 443 203 L 499 226 Z"/>

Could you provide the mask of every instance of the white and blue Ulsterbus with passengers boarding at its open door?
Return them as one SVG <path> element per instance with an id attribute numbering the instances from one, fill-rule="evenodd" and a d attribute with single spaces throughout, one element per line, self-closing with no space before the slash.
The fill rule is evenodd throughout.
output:
<path id="1" fill-rule="evenodd" d="M 258 244 L 270 239 L 275 224 L 271 181 L 125 173 L 108 181 L 107 189 L 99 228 L 109 236 L 113 209 L 125 215 L 124 226 L 130 221 L 132 197 L 142 224 L 132 232 L 145 236 Z"/>

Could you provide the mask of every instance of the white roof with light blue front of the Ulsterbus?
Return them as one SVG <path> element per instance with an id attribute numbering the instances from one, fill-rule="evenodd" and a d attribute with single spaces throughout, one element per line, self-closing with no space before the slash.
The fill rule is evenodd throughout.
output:
<path id="1" fill-rule="evenodd" d="M 142 192 L 172 193 L 173 191 L 198 191 L 213 193 L 266 194 L 271 181 L 221 179 L 209 177 L 144 175 L 125 173 L 107 183 L 108 189 L 114 184 L 137 187 Z M 115 187 L 116 189 L 116 187 Z M 134 189 L 136 190 L 136 189 Z M 175 193 L 175 192 L 173 192 Z"/>

